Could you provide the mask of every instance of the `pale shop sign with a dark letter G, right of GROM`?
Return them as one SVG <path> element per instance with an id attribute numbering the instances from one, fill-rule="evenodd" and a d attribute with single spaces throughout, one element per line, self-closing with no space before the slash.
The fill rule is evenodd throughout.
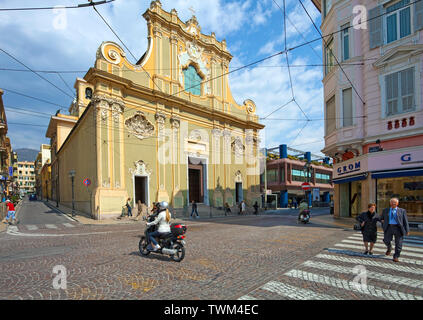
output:
<path id="1" fill-rule="evenodd" d="M 385 151 L 383 154 L 369 156 L 369 170 L 380 171 L 423 166 L 423 148 L 403 150 L 400 152 Z"/>

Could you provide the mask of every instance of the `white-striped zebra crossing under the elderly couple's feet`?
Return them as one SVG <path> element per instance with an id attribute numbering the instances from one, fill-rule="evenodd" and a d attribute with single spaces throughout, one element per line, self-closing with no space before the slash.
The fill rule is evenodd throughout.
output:
<path id="1" fill-rule="evenodd" d="M 385 256 L 382 239 L 378 233 L 373 255 L 364 255 L 354 233 L 238 300 L 423 300 L 423 238 L 404 238 L 399 263 Z"/>

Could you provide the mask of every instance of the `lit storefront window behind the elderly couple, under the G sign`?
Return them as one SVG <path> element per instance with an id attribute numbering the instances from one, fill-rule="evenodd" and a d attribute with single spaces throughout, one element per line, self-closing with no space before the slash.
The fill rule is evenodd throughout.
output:
<path id="1" fill-rule="evenodd" d="M 399 207 L 407 216 L 423 216 L 423 177 L 401 177 L 377 180 L 377 211 L 389 207 L 391 198 L 399 199 Z"/>

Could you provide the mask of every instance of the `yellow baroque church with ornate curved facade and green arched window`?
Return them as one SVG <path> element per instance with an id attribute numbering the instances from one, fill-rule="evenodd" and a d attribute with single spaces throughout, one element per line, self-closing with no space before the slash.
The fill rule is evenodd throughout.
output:
<path id="1" fill-rule="evenodd" d="M 231 94 L 225 40 L 202 34 L 195 16 L 184 23 L 160 1 L 143 17 L 148 49 L 141 59 L 133 64 L 121 46 L 103 42 L 75 83 L 70 115 L 52 117 L 53 198 L 69 207 L 73 200 L 96 219 L 120 215 L 127 198 L 132 205 L 167 201 L 177 215 L 192 200 L 213 215 L 226 202 L 260 203 L 264 126 L 253 101 L 238 104 Z"/>

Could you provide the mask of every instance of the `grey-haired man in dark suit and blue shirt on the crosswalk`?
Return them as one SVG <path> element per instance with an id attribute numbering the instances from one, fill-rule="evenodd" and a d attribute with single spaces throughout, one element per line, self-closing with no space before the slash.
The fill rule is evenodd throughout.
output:
<path id="1" fill-rule="evenodd" d="M 392 198 L 389 204 L 390 207 L 383 210 L 381 217 L 384 233 L 383 242 L 387 247 L 385 254 L 387 256 L 391 254 L 391 241 L 393 236 L 395 236 L 395 253 L 393 261 L 399 262 L 403 238 L 410 234 L 410 226 L 408 225 L 407 211 L 398 207 L 399 200 L 397 198 Z"/>

